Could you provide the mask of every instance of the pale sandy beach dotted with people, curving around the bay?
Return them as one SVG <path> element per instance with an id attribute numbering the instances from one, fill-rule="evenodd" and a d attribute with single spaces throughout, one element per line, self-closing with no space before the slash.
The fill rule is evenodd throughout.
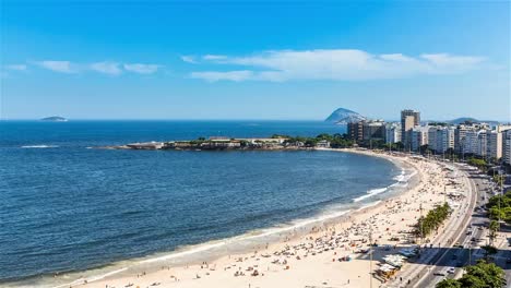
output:
<path id="1" fill-rule="evenodd" d="M 247 253 L 183 266 L 162 261 L 158 271 L 140 268 L 98 280 L 84 278 L 72 287 L 369 287 L 370 281 L 373 287 L 384 286 L 370 272 L 383 264 L 385 255 L 414 247 L 411 231 L 420 214 L 442 204 L 445 191 L 463 191 L 464 183 L 432 160 L 368 151 L 343 152 L 406 165 L 417 171 L 415 182 L 389 200 L 350 211 L 334 223 L 323 223 L 307 231 L 290 230 L 282 241 L 254 247 Z M 459 202 L 453 205 L 453 215 L 463 207 L 463 196 Z M 370 239 L 377 244 L 372 262 L 368 253 Z"/>

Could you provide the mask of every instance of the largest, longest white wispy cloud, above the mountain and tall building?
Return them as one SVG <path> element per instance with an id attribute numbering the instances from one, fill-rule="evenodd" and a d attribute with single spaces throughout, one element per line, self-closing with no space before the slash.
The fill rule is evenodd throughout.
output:
<path id="1" fill-rule="evenodd" d="M 485 61 L 485 58 L 473 56 L 436 53 L 409 57 L 402 53 L 372 55 L 354 49 L 274 50 L 245 57 L 205 55 L 202 59 L 210 64 L 250 68 L 190 74 L 191 77 L 210 82 L 399 79 L 421 74 L 463 73 L 479 68 Z"/>

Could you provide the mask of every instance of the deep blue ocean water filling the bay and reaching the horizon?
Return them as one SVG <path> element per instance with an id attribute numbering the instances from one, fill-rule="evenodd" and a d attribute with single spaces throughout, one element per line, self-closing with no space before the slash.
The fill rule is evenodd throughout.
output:
<path id="1" fill-rule="evenodd" d="M 343 132 L 297 121 L 2 121 L 0 286 L 168 260 L 187 247 L 342 215 L 383 197 L 405 173 L 381 158 L 337 152 L 91 147 Z"/>

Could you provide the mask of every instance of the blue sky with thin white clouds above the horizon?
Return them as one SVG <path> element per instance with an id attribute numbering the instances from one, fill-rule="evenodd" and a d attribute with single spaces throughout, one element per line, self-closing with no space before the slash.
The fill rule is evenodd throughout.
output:
<path id="1" fill-rule="evenodd" d="M 509 1 L 314 2 L 3 0 L 1 118 L 511 120 Z"/>

